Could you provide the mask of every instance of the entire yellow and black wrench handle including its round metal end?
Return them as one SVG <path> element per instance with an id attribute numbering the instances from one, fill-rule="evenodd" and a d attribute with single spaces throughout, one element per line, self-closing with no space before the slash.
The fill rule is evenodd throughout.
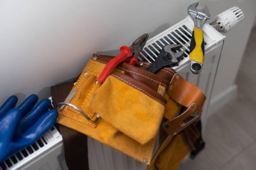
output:
<path id="1" fill-rule="evenodd" d="M 192 73 L 198 74 L 201 72 L 201 66 L 203 65 L 204 59 L 203 30 L 196 27 L 193 29 L 189 50 L 189 60 L 191 60 L 191 71 Z M 193 67 L 193 65 L 195 66 Z"/>

